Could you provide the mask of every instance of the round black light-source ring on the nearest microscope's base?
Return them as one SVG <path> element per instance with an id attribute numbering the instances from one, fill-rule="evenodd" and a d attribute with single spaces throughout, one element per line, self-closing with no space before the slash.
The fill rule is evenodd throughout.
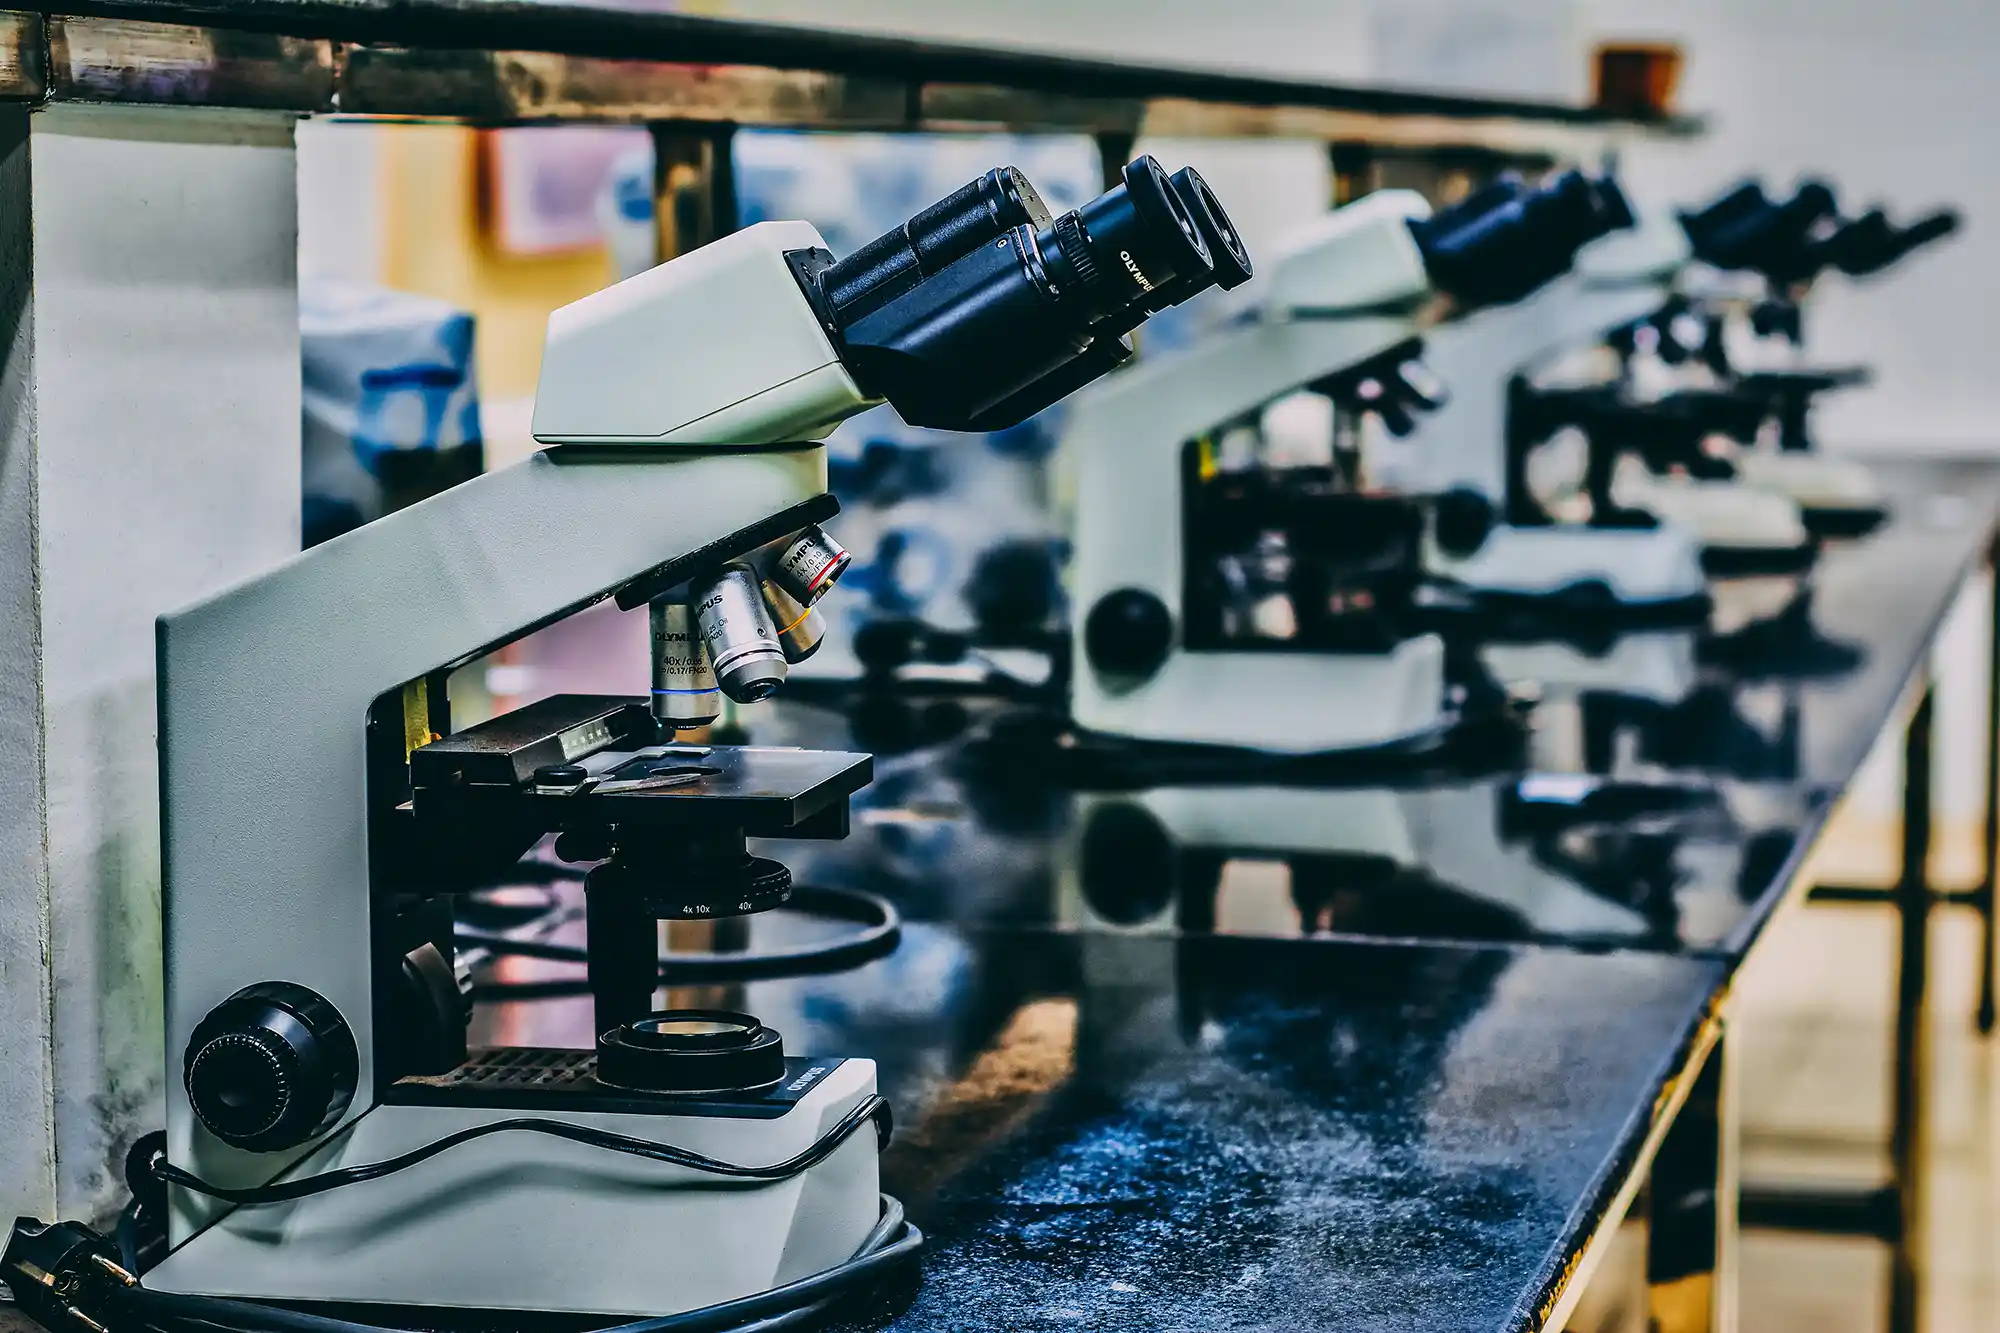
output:
<path id="1" fill-rule="evenodd" d="M 662 1009 L 598 1037 L 598 1083 L 648 1093 L 758 1093 L 784 1079 L 784 1041 L 732 1009 Z"/>

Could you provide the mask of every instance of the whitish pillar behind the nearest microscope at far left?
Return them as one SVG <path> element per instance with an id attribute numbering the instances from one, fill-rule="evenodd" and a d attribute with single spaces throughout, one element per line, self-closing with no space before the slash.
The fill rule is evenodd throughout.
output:
<path id="1" fill-rule="evenodd" d="M 152 622 L 298 550 L 292 124 L 0 110 L 0 1217 L 164 1119 Z"/>

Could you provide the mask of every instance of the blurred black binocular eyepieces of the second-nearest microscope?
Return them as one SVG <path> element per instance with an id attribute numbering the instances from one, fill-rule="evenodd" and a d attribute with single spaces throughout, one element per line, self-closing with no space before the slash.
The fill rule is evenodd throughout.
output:
<path id="1" fill-rule="evenodd" d="M 1540 186 L 1502 176 L 1410 230 L 1432 284 L 1470 308 L 1520 300 L 1580 248 L 1632 224 L 1616 180 L 1570 170 Z"/>

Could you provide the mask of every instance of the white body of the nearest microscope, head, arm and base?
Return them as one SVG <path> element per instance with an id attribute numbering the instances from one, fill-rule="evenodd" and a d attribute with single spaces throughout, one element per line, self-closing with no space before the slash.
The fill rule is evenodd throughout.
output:
<path id="1" fill-rule="evenodd" d="M 478 476 L 162 616 L 168 1161 L 258 1187 L 518 1113 L 378 1101 L 388 1037 L 376 1031 L 362 721 L 384 691 L 662 560 L 744 544 L 824 492 L 824 448 L 798 440 L 870 398 L 784 260 L 820 244 L 804 222 L 764 222 L 566 306 L 550 320 L 534 428 L 576 448 Z M 698 336 L 688 310 L 724 294 L 750 310 L 744 328 L 758 338 Z M 358 1057 L 330 1133 L 290 1151 L 218 1137 L 178 1067 L 212 1009 L 270 977 L 322 997 Z M 566 1119 L 760 1161 L 802 1151 L 872 1093 L 874 1065 L 840 1061 L 772 1121 L 658 1109 Z M 868 1135 L 756 1191 L 520 1139 L 484 1137 L 410 1173 L 290 1203 L 218 1207 L 176 1187 L 174 1253 L 146 1281 L 280 1301 L 656 1313 L 832 1267 L 876 1221 Z M 554 1217 L 560 1225 L 544 1225 Z M 634 1263 L 638 1235 L 672 1239 Z"/>

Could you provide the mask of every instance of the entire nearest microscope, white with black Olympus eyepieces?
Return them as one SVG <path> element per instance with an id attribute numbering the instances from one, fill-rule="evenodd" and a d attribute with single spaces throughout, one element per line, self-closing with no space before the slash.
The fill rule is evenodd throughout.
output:
<path id="1" fill-rule="evenodd" d="M 748 226 L 550 316 L 544 452 L 162 616 L 172 1079 L 146 1171 L 172 1253 L 130 1285 L 102 1239 L 24 1221 L 20 1305 L 766 1327 L 908 1257 L 872 1061 L 654 1007 L 658 923 L 786 903 L 762 843 L 842 837 L 870 759 L 680 733 L 814 646 L 846 564 L 816 440 L 884 400 L 1020 420 L 1212 286 L 1212 246 L 1242 254 L 1150 156 L 1062 216 L 988 172 L 840 260 L 804 222 Z M 456 666 L 606 598 L 650 608 L 650 699 L 454 729 Z M 594 1049 L 466 1045 L 452 901 L 524 855 L 588 865 Z"/>

